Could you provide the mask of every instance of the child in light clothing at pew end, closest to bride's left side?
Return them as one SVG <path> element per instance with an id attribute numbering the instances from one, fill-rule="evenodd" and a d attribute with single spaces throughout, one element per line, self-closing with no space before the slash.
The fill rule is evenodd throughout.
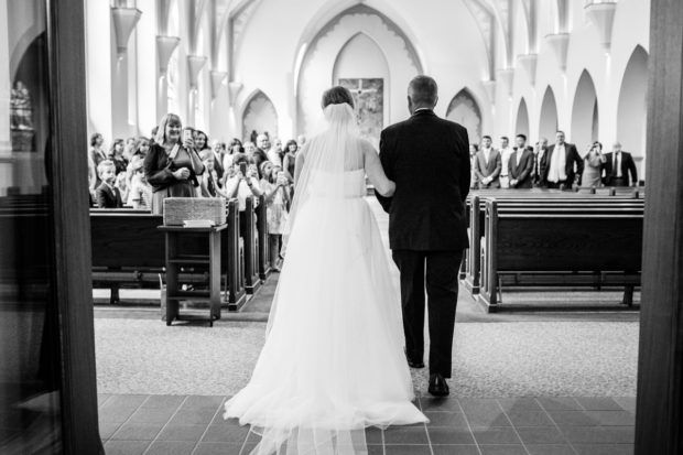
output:
<path id="1" fill-rule="evenodd" d="M 289 181 L 282 167 L 273 165 L 270 161 L 261 164 L 260 185 L 267 206 L 268 218 L 268 243 L 270 250 L 270 263 L 275 272 L 282 267 L 280 250 L 282 249 L 282 234 L 288 221 L 288 206 L 290 204 Z"/>

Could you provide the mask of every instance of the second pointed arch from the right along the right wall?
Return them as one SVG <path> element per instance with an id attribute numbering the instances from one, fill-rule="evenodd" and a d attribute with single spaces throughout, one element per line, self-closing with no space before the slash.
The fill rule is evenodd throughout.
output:
<path id="1" fill-rule="evenodd" d="M 567 138 L 576 144 L 578 150 L 584 150 L 588 144 L 598 140 L 599 117 L 598 99 L 595 84 L 590 74 L 583 71 L 574 94 L 572 107 L 572 137 Z"/>

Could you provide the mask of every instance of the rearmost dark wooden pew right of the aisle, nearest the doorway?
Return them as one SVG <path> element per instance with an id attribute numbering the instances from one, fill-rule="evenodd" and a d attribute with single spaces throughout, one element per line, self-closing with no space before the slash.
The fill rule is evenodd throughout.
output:
<path id="1" fill-rule="evenodd" d="M 640 283 L 642 206 L 510 207 L 486 201 L 478 301 L 497 311 L 501 275 L 510 285 L 625 286 Z M 520 280 L 529 277 L 529 280 Z"/>

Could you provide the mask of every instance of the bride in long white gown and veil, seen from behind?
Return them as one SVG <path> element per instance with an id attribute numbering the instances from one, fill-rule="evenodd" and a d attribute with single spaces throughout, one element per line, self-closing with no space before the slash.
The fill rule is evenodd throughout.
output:
<path id="1" fill-rule="evenodd" d="M 265 344 L 225 419 L 261 435 L 252 454 L 366 454 L 365 429 L 426 422 L 411 402 L 398 290 L 366 174 L 393 195 L 377 152 L 358 134 L 343 87 L 323 95 L 328 128 L 299 153 L 286 257 Z"/>

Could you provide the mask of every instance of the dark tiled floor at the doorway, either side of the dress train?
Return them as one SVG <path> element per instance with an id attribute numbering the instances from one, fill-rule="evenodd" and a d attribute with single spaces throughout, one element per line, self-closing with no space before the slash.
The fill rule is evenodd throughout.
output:
<path id="1" fill-rule="evenodd" d="M 226 397 L 102 394 L 107 455 L 248 454 L 258 436 L 223 420 Z M 633 398 L 433 399 L 426 425 L 366 432 L 369 454 L 627 455 Z"/>

